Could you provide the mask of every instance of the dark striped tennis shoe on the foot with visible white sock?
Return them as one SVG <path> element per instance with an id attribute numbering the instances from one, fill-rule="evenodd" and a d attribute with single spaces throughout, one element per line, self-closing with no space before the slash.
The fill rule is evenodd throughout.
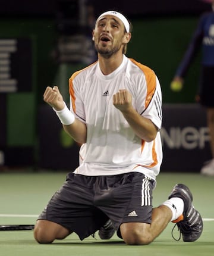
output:
<path id="1" fill-rule="evenodd" d="M 193 206 L 193 195 L 184 184 L 177 184 L 172 189 L 169 199 L 172 197 L 181 198 L 184 201 L 184 212 L 174 222 L 175 226 L 180 230 L 180 238 L 182 234 L 182 239 L 184 242 L 194 242 L 200 238 L 203 231 L 203 220 L 200 213 Z M 174 228 L 175 228 L 174 226 Z M 174 229 L 172 229 L 173 232 Z M 172 237 L 174 238 L 173 234 Z M 180 240 L 180 238 L 175 240 Z"/>

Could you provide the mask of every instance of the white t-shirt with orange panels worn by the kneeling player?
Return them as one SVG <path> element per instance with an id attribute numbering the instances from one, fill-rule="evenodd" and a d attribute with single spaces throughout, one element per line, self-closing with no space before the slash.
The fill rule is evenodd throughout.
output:
<path id="1" fill-rule="evenodd" d="M 127 89 L 133 106 L 161 129 L 162 93 L 153 70 L 124 55 L 122 64 L 105 76 L 99 62 L 77 71 L 69 80 L 71 111 L 87 125 L 87 142 L 80 148 L 75 173 L 87 176 L 139 171 L 155 179 L 162 163 L 161 136 L 140 139 L 113 105 L 113 95 Z"/>

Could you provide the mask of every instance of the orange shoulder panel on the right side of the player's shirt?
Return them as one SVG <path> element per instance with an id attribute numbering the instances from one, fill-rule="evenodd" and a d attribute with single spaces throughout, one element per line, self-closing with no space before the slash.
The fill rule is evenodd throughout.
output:
<path id="1" fill-rule="evenodd" d="M 150 101 L 152 100 L 152 97 L 155 93 L 156 89 L 156 75 L 155 72 L 147 67 L 146 65 L 143 65 L 141 63 L 138 63 L 137 61 L 130 58 L 130 60 L 139 67 L 144 75 L 146 76 L 146 84 L 147 84 L 147 95 L 146 95 L 146 101 L 145 101 L 145 108 L 148 107 Z"/>

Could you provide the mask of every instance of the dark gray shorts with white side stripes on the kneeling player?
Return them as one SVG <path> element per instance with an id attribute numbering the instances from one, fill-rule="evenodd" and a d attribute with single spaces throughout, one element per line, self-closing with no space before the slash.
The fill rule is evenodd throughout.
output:
<path id="1" fill-rule="evenodd" d="M 96 177 L 68 173 L 38 219 L 61 224 L 81 240 L 109 218 L 116 230 L 125 222 L 151 223 L 154 187 L 154 180 L 137 172 Z"/>

